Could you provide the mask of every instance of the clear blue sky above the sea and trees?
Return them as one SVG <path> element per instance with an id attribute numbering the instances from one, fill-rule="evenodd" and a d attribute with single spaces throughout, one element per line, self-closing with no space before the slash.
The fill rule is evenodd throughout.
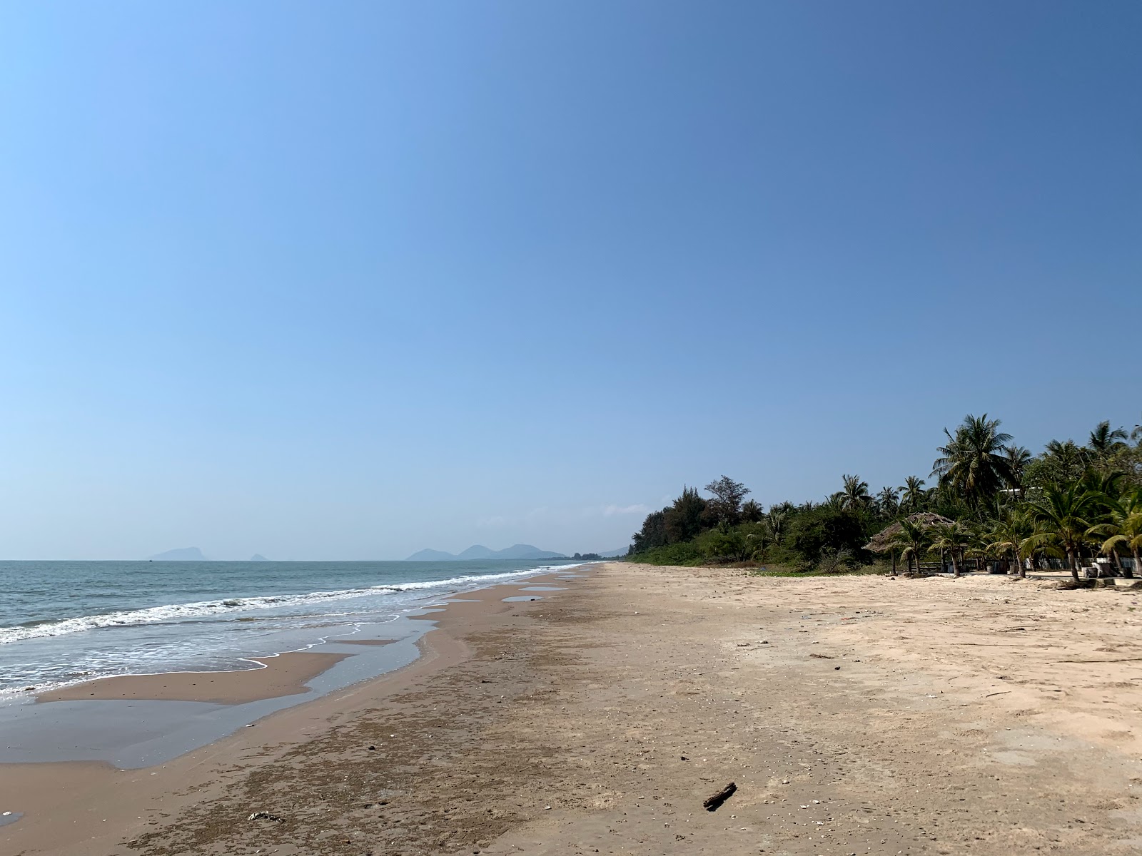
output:
<path id="1" fill-rule="evenodd" d="M 1142 420 L 1142 6 L 9 2 L 0 557 L 625 547 Z"/>

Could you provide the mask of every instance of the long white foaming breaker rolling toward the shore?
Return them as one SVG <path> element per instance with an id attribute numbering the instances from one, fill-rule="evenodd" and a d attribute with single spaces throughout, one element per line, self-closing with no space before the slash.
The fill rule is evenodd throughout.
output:
<path id="1" fill-rule="evenodd" d="M 144 609 L 127 609 L 108 612 L 98 615 L 77 615 L 70 619 L 30 621 L 17 627 L 0 628 L 0 645 L 22 641 L 24 639 L 42 639 L 53 636 L 66 636 L 83 630 L 98 630 L 110 627 L 138 627 L 143 624 L 182 623 L 198 619 L 224 615 L 226 613 L 248 609 L 273 609 L 290 606 L 307 606 L 324 600 L 346 600 L 368 597 L 378 592 L 418 591 L 421 589 L 449 588 L 467 586 L 475 582 L 521 578 L 541 573 L 549 567 L 534 567 L 526 571 L 508 571 L 499 574 L 467 574 L 451 576 L 447 580 L 423 580 L 418 582 L 391 583 L 370 586 L 363 589 L 341 589 L 339 591 L 311 591 L 305 595 L 267 595 L 262 597 L 219 598 L 201 600 L 192 604 L 168 604 L 151 606 Z"/>

